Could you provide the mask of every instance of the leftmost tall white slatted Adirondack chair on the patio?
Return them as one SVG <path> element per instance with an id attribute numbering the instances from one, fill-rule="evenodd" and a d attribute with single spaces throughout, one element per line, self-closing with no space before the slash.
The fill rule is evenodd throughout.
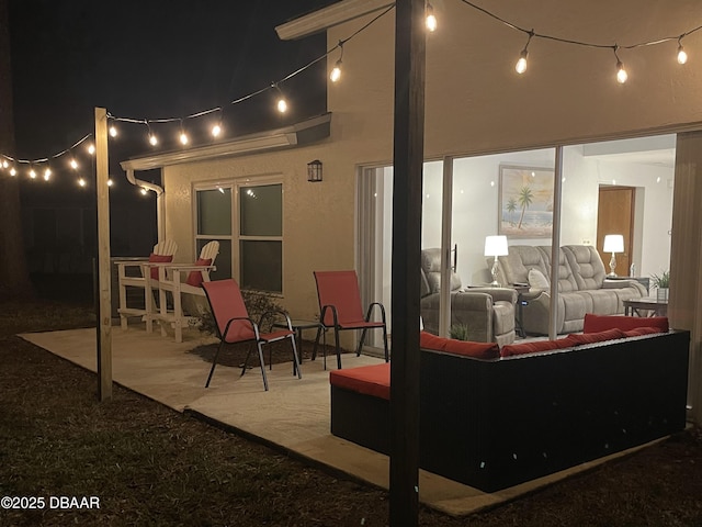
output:
<path id="1" fill-rule="evenodd" d="M 122 329 L 127 328 L 129 316 L 140 316 L 146 321 L 146 330 L 151 333 L 152 319 L 148 316 L 154 313 L 154 294 L 151 281 L 158 280 L 158 270 L 149 269 L 146 264 L 169 262 L 178 251 L 178 245 L 172 239 L 165 239 L 154 246 L 148 258 L 120 260 L 117 266 L 117 284 L 120 289 L 120 323 Z M 144 298 L 144 307 L 127 305 L 127 288 L 138 288 Z"/>

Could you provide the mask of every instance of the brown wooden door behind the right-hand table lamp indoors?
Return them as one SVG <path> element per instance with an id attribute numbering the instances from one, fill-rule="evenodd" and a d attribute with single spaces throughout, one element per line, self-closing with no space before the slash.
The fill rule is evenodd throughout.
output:
<path id="1" fill-rule="evenodd" d="M 604 236 L 621 234 L 624 237 L 624 253 L 615 255 L 614 272 L 620 277 L 629 277 L 633 261 L 634 210 L 636 188 L 600 186 L 597 214 L 597 250 L 609 271 L 611 253 L 604 253 Z"/>

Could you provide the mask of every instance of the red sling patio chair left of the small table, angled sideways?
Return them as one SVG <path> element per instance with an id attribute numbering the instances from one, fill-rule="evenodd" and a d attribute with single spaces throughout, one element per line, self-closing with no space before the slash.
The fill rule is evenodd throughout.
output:
<path id="1" fill-rule="evenodd" d="M 205 388 L 210 386 L 210 381 L 212 380 L 215 367 L 217 366 L 217 357 L 226 344 L 251 343 L 257 346 L 259 362 L 261 365 L 261 374 L 263 375 L 263 388 L 268 391 L 265 362 L 263 361 L 263 346 L 285 338 L 290 340 L 291 348 L 293 349 L 293 374 L 297 373 L 297 378 L 302 379 L 303 375 L 299 369 L 297 347 L 295 346 L 295 332 L 293 330 L 287 313 L 283 311 L 269 311 L 261 315 L 261 318 L 257 324 L 249 317 L 246 304 L 244 303 L 244 298 L 241 296 L 241 290 L 235 280 L 229 278 L 226 280 L 204 281 L 202 282 L 202 288 L 205 290 L 205 295 L 210 302 L 210 307 L 212 309 L 212 314 L 215 318 L 217 338 L 219 338 L 219 346 L 217 347 L 215 357 L 212 360 L 212 368 L 210 370 Z M 271 333 L 261 333 L 259 328 L 269 317 L 279 317 L 279 319 L 284 317 L 287 328 Z M 247 352 L 244 367 L 241 368 L 241 375 L 246 373 L 251 349 L 252 347 L 250 347 Z"/>

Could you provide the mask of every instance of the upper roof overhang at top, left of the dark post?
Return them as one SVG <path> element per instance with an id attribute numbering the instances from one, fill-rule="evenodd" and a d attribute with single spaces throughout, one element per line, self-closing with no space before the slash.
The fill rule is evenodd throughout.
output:
<path id="1" fill-rule="evenodd" d="M 350 20 L 386 9 L 390 0 L 343 0 L 275 27 L 282 41 L 294 41 L 343 24 Z"/>

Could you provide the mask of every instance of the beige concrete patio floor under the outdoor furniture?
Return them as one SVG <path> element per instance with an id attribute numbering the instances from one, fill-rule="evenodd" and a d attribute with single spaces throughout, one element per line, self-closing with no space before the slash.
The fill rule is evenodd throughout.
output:
<path id="1" fill-rule="evenodd" d="M 97 371 L 95 329 L 71 329 L 21 335 L 59 357 L 90 371 Z M 354 479 L 388 489 L 389 459 L 332 436 L 329 431 L 329 372 L 322 361 L 306 360 L 303 378 L 292 374 L 292 363 L 274 365 L 268 370 L 269 391 L 263 390 L 260 370 L 244 377 L 238 368 L 217 366 L 208 389 L 204 388 L 210 362 L 190 352 L 214 340 L 199 332 L 184 332 L 183 343 L 158 330 L 147 334 L 144 324 L 127 330 L 112 328 L 113 380 L 178 412 L 189 412 L 229 429 L 239 430 L 291 455 Z M 343 356 L 343 367 L 378 363 L 382 359 Z M 336 368 L 336 359 L 327 361 Z M 643 448 L 643 447 L 639 447 Z M 421 503 L 452 516 L 463 516 L 551 484 L 590 469 L 613 457 L 558 472 L 496 493 L 485 493 L 437 474 L 420 471 Z"/>

